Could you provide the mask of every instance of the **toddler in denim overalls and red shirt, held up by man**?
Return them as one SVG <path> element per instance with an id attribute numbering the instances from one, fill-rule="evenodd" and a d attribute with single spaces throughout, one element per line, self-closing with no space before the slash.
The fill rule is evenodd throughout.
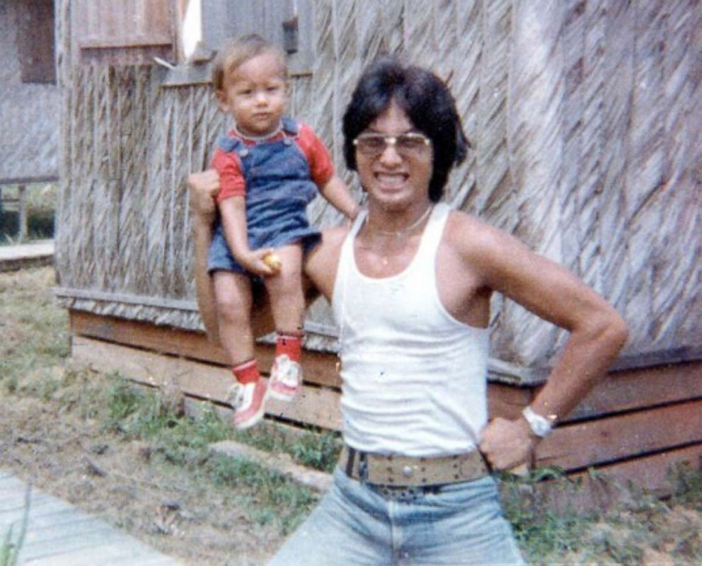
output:
<path id="1" fill-rule="evenodd" d="M 233 364 L 238 429 L 263 417 L 267 395 L 289 401 L 301 389 L 301 267 L 304 253 L 321 237 L 309 225 L 306 205 L 319 191 L 348 218 L 357 214 L 316 134 L 284 115 L 286 81 L 283 52 L 258 35 L 239 37 L 214 61 L 214 93 L 234 127 L 217 141 L 212 158 L 220 180 L 219 220 L 208 270 L 219 335 Z M 252 284 L 267 289 L 277 331 L 267 384 L 254 359 Z"/>

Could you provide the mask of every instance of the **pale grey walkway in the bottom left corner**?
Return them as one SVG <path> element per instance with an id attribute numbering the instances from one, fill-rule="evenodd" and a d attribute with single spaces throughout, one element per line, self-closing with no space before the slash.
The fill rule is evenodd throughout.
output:
<path id="1" fill-rule="evenodd" d="M 10 529 L 18 543 L 27 507 L 18 566 L 183 565 L 61 499 L 33 487 L 28 493 L 25 482 L 0 470 L 0 544 Z"/>

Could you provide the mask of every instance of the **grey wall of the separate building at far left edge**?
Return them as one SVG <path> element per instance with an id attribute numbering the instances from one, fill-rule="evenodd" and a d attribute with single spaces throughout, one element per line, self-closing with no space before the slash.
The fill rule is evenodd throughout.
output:
<path id="1" fill-rule="evenodd" d="M 59 91 L 50 83 L 22 82 L 23 4 L 0 2 L 0 184 L 58 176 Z"/>

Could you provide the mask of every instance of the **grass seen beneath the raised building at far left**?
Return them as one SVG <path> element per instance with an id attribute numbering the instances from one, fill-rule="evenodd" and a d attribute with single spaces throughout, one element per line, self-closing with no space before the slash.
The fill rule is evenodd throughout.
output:
<path id="1" fill-rule="evenodd" d="M 4 199 L 16 198 L 16 185 L 0 187 Z M 57 185 L 40 183 L 27 185 L 27 236 L 29 240 L 54 237 L 54 212 L 57 201 Z M 0 206 L 0 246 L 18 243 L 19 214 L 17 205 Z"/>

